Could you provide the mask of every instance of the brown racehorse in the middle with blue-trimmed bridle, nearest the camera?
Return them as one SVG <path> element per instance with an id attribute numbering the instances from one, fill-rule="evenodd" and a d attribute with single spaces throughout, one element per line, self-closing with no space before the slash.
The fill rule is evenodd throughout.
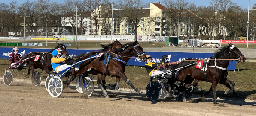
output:
<path id="1" fill-rule="evenodd" d="M 108 64 L 108 71 L 109 71 L 110 75 L 116 76 L 117 78 L 122 78 L 138 94 L 142 93 L 140 90 L 138 90 L 136 87 L 134 87 L 134 85 L 126 77 L 124 72 L 125 72 L 126 63 L 131 58 L 131 57 L 127 57 L 127 56 L 137 56 L 142 61 L 144 61 L 144 62 L 146 61 L 146 55 L 143 52 L 143 48 L 139 45 L 139 43 L 137 41 L 134 41 L 134 42 L 127 43 L 127 44 L 123 45 L 122 49 L 116 49 L 116 50 L 114 50 L 114 52 L 116 52 L 116 54 L 119 56 L 117 56 L 113 53 L 110 53 L 109 57 L 111 57 L 111 58 L 109 58 L 109 64 Z M 101 52 L 99 51 L 97 53 L 101 53 Z M 82 60 L 86 59 L 86 58 L 90 58 L 94 54 L 95 54 L 94 52 L 90 52 L 85 57 L 83 57 Z M 112 58 L 116 58 L 116 59 L 112 59 Z M 117 60 L 118 58 L 119 58 L 119 60 Z M 106 64 L 104 64 L 104 59 L 105 59 L 104 56 L 101 56 L 100 58 L 94 58 L 94 59 L 90 59 L 90 60 L 83 62 L 82 64 L 80 64 L 79 71 L 77 73 L 75 73 L 70 80 L 74 80 L 76 78 L 76 75 L 84 74 L 88 69 L 91 69 L 98 75 L 97 84 L 101 88 L 104 96 L 109 97 L 107 95 L 106 90 L 104 90 L 104 88 L 101 84 L 102 75 L 103 75 L 103 73 L 107 72 Z M 70 81 L 66 81 L 64 83 L 70 83 Z"/>

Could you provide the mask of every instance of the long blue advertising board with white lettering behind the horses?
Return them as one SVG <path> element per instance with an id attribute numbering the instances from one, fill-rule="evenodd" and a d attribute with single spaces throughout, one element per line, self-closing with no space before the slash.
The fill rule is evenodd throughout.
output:
<path id="1" fill-rule="evenodd" d="M 8 59 L 9 55 L 12 53 L 12 48 L 0 48 L 0 52 L 2 55 L 0 55 L 0 58 Z M 32 49 L 32 48 L 20 48 L 19 53 L 23 56 L 30 52 L 49 52 L 52 49 Z M 71 57 L 79 55 L 81 53 L 87 53 L 92 52 L 95 50 L 75 50 L 75 49 L 67 49 L 67 52 Z M 163 55 L 167 55 L 169 58 L 169 62 L 176 62 L 176 61 L 183 61 L 187 58 L 210 58 L 213 53 L 184 53 L 184 52 L 145 52 L 146 55 L 152 56 L 152 62 L 160 62 L 162 60 Z M 131 58 L 127 65 L 134 65 L 134 66 L 144 66 L 145 62 L 142 62 L 140 59 Z M 230 62 L 228 66 L 228 70 L 235 70 L 236 68 L 236 62 Z"/>

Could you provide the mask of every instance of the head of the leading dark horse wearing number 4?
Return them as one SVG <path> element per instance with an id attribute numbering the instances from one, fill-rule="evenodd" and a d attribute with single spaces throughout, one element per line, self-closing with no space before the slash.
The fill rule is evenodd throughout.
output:
<path id="1" fill-rule="evenodd" d="M 230 53 L 231 53 L 231 58 L 237 58 L 238 61 L 240 63 L 244 63 L 246 58 L 244 57 L 244 55 L 241 53 L 241 51 L 236 47 L 234 46 L 232 43 L 229 44 L 229 49 L 230 49 Z"/>

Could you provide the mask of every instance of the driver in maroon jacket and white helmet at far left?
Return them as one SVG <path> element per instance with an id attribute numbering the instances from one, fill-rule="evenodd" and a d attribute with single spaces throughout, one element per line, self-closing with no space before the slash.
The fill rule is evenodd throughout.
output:
<path id="1" fill-rule="evenodd" d="M 18 53 L 18 50 L 19 50 L 18 47 L 14 47 L 12 49 L 13 52 L 9 55 L 9 61 L 11 61 L 11 66 L 21 60 L 21 55 Z M 12 67 L 16 67 L 16 65 Z"/>

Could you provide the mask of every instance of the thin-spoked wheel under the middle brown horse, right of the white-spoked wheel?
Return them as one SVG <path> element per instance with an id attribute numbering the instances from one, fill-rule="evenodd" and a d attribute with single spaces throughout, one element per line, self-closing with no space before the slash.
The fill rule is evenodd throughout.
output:
<path id="1" fill-rule="evenodd" d="M 94 82 L 90 80 L 89 77 L 85 77 L 85 84 L 81 79 L 79 78 L 79 91 L 82 94 L 82 96 L 90 97 L 94 92 Z M 86 87 L 85 87 L 86 86 Z"/>

